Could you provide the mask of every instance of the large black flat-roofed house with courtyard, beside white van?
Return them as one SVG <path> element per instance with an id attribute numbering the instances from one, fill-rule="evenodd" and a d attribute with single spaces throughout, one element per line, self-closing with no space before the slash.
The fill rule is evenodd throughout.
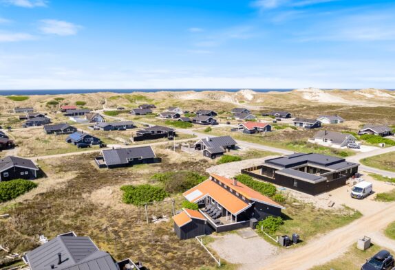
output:
<path id="1" fill-rule="evenodd" d="M 261 166 L 242 170 L 256 179 L 317 195 L 345 185 L 358 172 L 359 164 L 339 157 L 295 153 L 266 159 Z M 256 172 L 259 170 L 259 173 Z"/>

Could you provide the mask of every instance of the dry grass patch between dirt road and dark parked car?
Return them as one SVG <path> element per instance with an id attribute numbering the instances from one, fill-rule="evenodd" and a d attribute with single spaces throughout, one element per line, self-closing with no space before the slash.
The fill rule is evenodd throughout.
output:
<path id="1" fill-rule="evenodd" d="M 350 247 L 348 251 L 325 265 L 319 265 L 317 267 L 312 267 L 310 270 L 359 270 L 361 266 L 366 262 L 367 259 L 374 256 L 382 248 L 377 245 L 372 245 L 370 249 L 365 251 L 356 248 L 356 245 Z M 391 252 L 391 251 L 390 251 Z M 391 252 L 394 254 L 394 252 Z"/>

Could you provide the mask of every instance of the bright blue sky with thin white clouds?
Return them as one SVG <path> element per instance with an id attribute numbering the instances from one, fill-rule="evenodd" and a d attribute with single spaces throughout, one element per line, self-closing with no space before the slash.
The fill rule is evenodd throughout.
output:
<path id="1" fill-rule="evenodd" d="M 394 14 L 383 0 L 0 0 L 0 89 L 394 89 Z"/>

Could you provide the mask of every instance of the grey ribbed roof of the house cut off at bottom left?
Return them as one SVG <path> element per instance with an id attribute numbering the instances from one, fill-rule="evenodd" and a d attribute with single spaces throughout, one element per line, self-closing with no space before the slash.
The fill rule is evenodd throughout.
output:
<path id="1" fill-rule="evenodd" d="M 58 265 L 58 253 L 61 264 Z M 100 251 L 89 237 L 57 236 L 27 254 L 30 269 L 49 270 L 116 270 L 111 256 Z"/>

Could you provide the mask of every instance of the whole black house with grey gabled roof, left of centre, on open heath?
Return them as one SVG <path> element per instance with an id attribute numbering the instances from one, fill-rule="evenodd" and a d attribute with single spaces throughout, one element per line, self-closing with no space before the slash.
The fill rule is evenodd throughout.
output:
<path id="1" fill-rule="evenodd" d="M 151 146 L 103 150 L 100 157 L 95 158 L 99 168 L 120 168 L 136 164 L 160 162 Z"/>

